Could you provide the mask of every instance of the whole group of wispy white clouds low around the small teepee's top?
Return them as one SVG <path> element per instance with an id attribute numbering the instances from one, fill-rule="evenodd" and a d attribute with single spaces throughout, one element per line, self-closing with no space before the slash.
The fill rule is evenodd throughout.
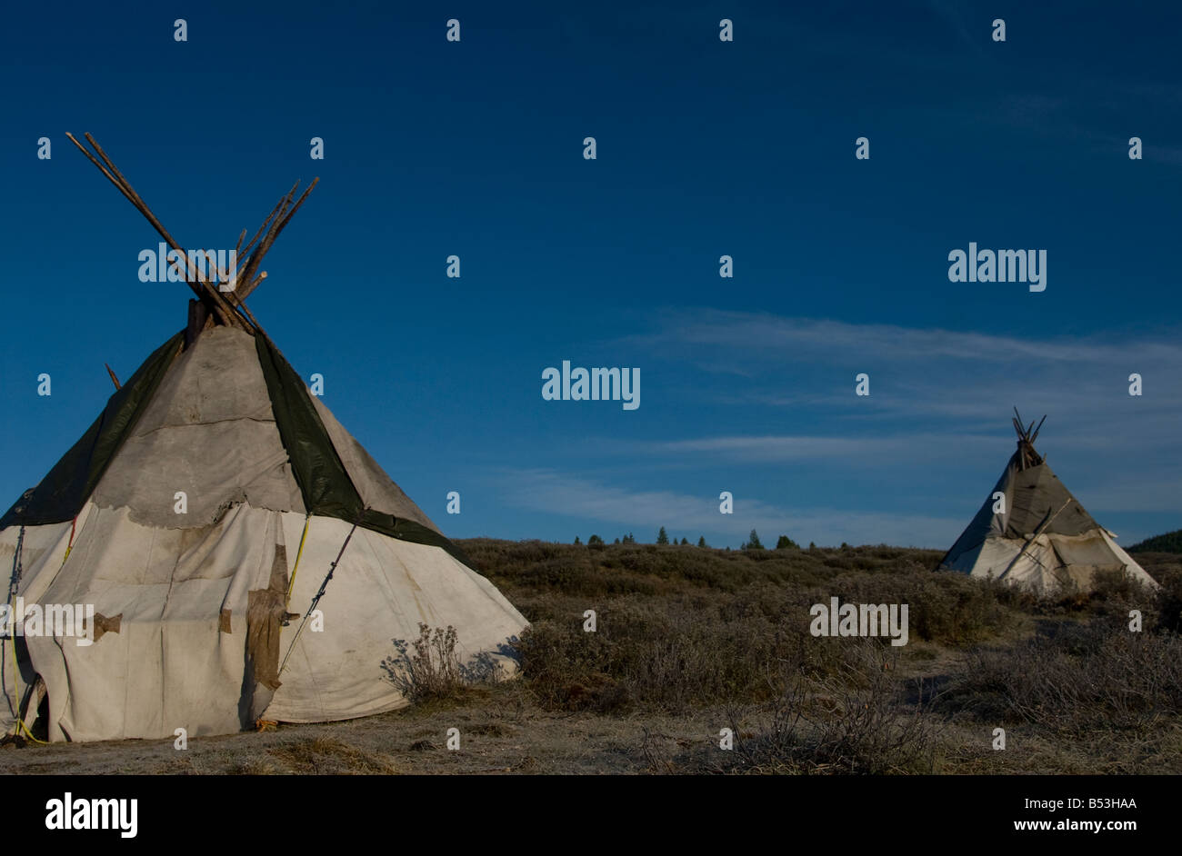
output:
<path id="1" fill-rule="evenodd" d="M 669 377 L 716 410 L 656 436 L 584 440 L 578 470 L 504 471 L 505 504 L 605 537 L 651 538 L 663 525 L 738 544 L 754 528 L 765 538 L 946 547 L 1013 450 L 1017 404 L 1027 419 L 1050 414 L 1040 451 L 1100 522 L 1121 521 L 1124 543 L 1151 534 L 1143 515 L 1182 514 L 1182 344 L 1169 331 L 1024 339 L 678 309 L 626 345 L 647 365 L 689 366 Z M 869 399 L 853 394 L 857 371 L 871 375 Z M 1132 371 L 1143 397 L 1128 394 Z M 781 424 L 794 430 L 767 430 Z M 674 484 L 671 470 L 673 489 L 651 486 Z M 693 492 L 699 471 L 747 491 L 733 516 L 719 514 L 726 485 Z"/>

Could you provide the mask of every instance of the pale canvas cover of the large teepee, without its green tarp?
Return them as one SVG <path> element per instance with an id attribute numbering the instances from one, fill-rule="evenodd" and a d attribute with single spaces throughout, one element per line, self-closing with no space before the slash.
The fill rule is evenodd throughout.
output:
<path id="1" fill-rule="evenodd" d="M 394 503 L 437 532 L 316 405 L 350 477 L 364 470 L 366 503 Z M 169 366 L 77 520 L 0 530 L 0 562 L 19 566 L 26 608 L 91 605 L 97 615 L 90 646 L 21 638 L 15 669 L 5 640 L 0 719 L 30 724 L 39 694 L 51 740 L 169 738 L 178 727 L 196 737 L 260 718 L 394 710 L 407 704 L 390 680 L 395 640 L 416 639 L 420 622 L 455 627 L 469 668 L 512 672 L 508 645 L 526 621 L 492 583 L 443 547 L 362 527 L 318 603 L 323 630 L 305 628 L 292 648 L 300 619 L 279 619 L 309 609 L 351 529 L 306 516 L 249 334 L 208 329 Z"/>

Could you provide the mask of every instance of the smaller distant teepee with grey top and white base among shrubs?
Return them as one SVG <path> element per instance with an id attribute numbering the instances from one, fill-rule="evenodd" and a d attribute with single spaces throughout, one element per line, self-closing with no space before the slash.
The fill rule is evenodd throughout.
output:
<path id="1" fill-rule="evenodd" d="M 1043 594 L 1070 587 L 1086 592 L 1098 571 L 1123 570 L 1132 580 L 1156 587 L 1034 450 L 1041 423 L 1038 429 L 1033 423 L 1024 427 L 1019 417 L 1014 427 L 1018 450 L 940 566 Z"/>

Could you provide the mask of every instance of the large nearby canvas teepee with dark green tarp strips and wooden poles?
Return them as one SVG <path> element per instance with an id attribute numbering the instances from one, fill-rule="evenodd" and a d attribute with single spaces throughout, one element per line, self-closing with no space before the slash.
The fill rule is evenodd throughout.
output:
<path id="1" fill-rule="evenodd" d="M 248 289 L 187 281 L 188 328 L 0 518 L 9 603 L 41 616 L 4 641 L 9 731 L 193 737 L 394 710 L 407 704 L 396 642 L 421 623 L 456 629 L 466 669 L 512 672 L 520 613 L 310 393 L 246 311 Z M 67 607 L 93 609 L 90 643 L 48 632 Z"/>

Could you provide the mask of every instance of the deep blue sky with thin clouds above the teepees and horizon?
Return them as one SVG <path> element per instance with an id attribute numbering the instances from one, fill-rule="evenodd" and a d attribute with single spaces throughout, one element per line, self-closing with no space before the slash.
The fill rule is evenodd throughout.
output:
<path id="1" fill-rule="evenodd" d="M 943 548 L 1013 405 L 1122 543 L 1182 525 L 1176 4 L 550 6 L 7 8 L 0 502 L 184 322 L 90 131 L 186 247 L 320 177 L 249 305 L 448 535 Z M 1046 292 L 949 282 L 970 241 Z M 544 401 L 563 359 L 641 407 Z"/>

